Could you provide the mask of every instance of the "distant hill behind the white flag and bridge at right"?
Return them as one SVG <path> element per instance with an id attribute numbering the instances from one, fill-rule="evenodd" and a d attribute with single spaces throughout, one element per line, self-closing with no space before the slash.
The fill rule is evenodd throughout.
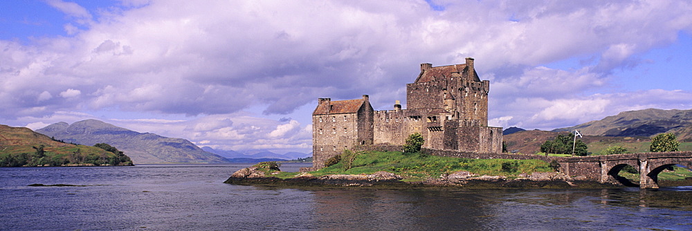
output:
<path id="1" fill-rule="evenodd" d="M 603 120 L 594 120 L 553 131 L 574 131 L 575 129 L 592 136 L 650 137 L 658 133 L 675 133 L 678 140 L 692 141 L 692 110 L 623 111 Z"/>

